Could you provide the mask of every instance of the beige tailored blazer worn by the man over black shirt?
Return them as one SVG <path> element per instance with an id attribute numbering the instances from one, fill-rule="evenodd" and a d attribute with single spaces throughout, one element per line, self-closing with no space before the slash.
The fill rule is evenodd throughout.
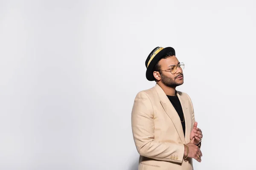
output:
<path id="1" fill-rule="evenodd" d="M 159 85 L 141 91 L 134 100 L 131 125 L 140 154 L 139 170 L 192 170 L 192 159 L 183 159 L 195 117 L 191 99 L 177 91 L 185 117 L 185 137 L 180 117 Z"/>

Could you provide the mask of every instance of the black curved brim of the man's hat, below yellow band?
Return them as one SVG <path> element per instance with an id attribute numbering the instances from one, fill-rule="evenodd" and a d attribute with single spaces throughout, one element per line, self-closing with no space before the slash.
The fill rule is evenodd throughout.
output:
<path id="1" fill-rule="evenodd" d="M 151 62 L 149 63 L 148 65 L 148 68 L 147 68 L 147 71 L 146 71 L 146 78 L 149 80 L 149 81 L 154 81 L 155 78 L 154 78 L 154 75 L 153 75 L 153 68 L 154 66 L 157 64 L 157 62 L 162 58 L 164 57 L 168 52 L 173 52 L 174 55 L 175 55 L 175 50 L 174 48 L 172 47 L 166 47 L 166 48 L 163 48 L 163 50 L 159 51 L 155 57 L 151 60 Z"/>

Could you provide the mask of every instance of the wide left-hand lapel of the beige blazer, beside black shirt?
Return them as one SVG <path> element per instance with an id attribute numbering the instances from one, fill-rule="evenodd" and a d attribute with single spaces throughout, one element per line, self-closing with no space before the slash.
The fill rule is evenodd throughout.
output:
<path id="1" fill-rule="evenodd" d="M 165 112 L 167 113 L 169 118 L 172 120 L 172 122 L 180 136 L 181 142 L 185 143 L 183 128 L 182 128 L 182 125 L 180 122 L 180 117 L 179 117 L 177 111 L 173 107 L 172 103 L 169 101 L 169 99 L 166 96 L 166 94 L 164 93 L 163 89 L 157 84 L 156 84 L 155 88 L 157 90 L 158 95 L 160 96 L 160 103 L 163 106 L 163 109 L 165 110 Z M 183 107 L 183 104 L 181 106 Z M 184 109 L 183 109 L 183 111 L 184 111 Z M 185 117 L 185 122 L 186 122 L 186 117 Z"/>

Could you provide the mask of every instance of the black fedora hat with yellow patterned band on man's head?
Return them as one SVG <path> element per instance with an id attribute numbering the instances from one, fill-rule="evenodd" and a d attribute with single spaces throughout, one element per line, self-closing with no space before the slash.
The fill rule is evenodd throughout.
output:
<path id="1" fill-rule="evenodd" d="M 175 50 L 172 47 L 156 47 L 154 50 L 151 51 L 151 53 L 148 55 L 148 58 L 145 61 L 145 65 L 147 68 L 146 71 L 146 78 L 149 81 L 154 81 L 154 75 L 153 75 L 153 68 L 157 64 L 157 62 L 163 58 L 168 52 L 172 52 L 175 55 Z"/>

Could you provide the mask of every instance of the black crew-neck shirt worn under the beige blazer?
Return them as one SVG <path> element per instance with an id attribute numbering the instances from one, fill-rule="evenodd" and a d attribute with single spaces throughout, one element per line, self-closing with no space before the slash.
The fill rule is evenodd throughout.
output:
<path id="1" fill-rule="evenodd" d="M 184 118 L 183 110 L 182 110 L 182 107 L 181 107 L 181 104 L 180 104 L 180 100 L 179 100 L 178 96 L 168 96 L 168 95 L 166 95 L 166 96 L 168 97 L 168 99 L 172 103 L 173 107 L 177 111 L 178 115 L 180 116 L 180 122 L 181 122 L 183 132 L 184 132 L 184 136 L 185 136 L 185 131 L 186 131 L 185 118 Z"/>

